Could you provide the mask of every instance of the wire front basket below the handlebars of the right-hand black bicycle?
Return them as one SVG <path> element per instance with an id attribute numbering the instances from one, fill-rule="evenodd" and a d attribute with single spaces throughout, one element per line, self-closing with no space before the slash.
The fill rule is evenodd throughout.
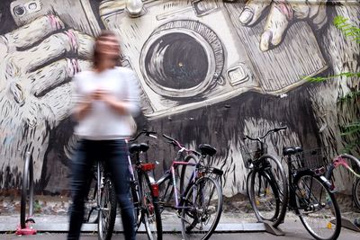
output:
<path id="1" fill-rule="evenodd" d="M 251 163 L 262 155 L 267 153 L 267 145 L 263 145 L 261 150 L 260 143 L 258 142 L 247 142 L 240 147 L 242 160 L 246 168 L 251 168 Z"/>

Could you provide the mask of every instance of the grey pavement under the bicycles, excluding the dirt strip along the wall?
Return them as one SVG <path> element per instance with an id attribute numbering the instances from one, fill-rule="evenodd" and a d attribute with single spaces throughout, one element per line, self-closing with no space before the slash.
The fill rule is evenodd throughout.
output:
<path id="1" fill-rule="evenodd" d="M 250 215 L 249 215 L 250 216 Z M 211 240 L 264 240 L 264 239 L 277 239 L 277 240 L 300 240 L 300 239 L 313 239 L 313 237 L 302 226 L 301 221 L 292 213 L 289 213 L 284 224 L 279 229 L 283 236 L 276 236 L 266 232 L 266 225 L 263 223 L 257 223 L 255 218 L 249 216 L 243 217 L 242 214 L 226 213 L 221 216 L 220 223 L 216 229 L 214 235 L 211 236 Z M 34 216 L 36 223 L 32 225 L 34 229 L 38 230 L 35 236 L 16 236 L 14 230 L 19 222 L 19 216 L 0 216 L 0 239 L 4 240 L 65 240 L 67 232 L 67 216 Z M 163 226 L 165 234 L 164 240 L 181 240 L 180 233 L 180 220 L 170 212 L 166 213 L 165 221 L 163 219 Z M 8 230 L 5 230 L 5 228 Z M 121 235 L 121 221 L 116 219 L 115 234 L 112 236 L 113 240 L 124 239 Z M 82 240 L 95 240 L 96 225 L 84 224 Z M 145 240 L 148 237 L 144 234 L 143 229 L 140 229 L 140 233 L 137 236 L 137 240 Z M 200 239 L 196 238 L 194 239 Z M 341 234 L 338 237 L 341 240 L 356 240 L 360 239 L 359 232 L 349 230 L 342 227 Z"/>

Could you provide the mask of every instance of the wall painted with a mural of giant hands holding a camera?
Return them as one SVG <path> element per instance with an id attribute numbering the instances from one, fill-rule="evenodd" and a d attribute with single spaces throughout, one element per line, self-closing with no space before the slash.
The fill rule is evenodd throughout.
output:
<path id="1" fill-rule="evenodd" d="M 216 147 L 211 161 L 225 172 L 227 196 L 245 190 L 244 134 L 287 125 L 269 138 L 269 152 L 277 155 L 285 145 L 323 144 L 336 152 L 349 140 L 340 137 L 339 126 L 359 118 L 358 102 L 339 104 L 338 98 L 358 91 L 359 79 L 309 84 L 304 77 L 359 71 L 359 44 L 332 24 L 342 15 L 358 26 L 359 3 L 143 2 L 138 18 L 129 17 L 125 1 L 1 2 L 0 189 L 20 186 L 28 150 L 39 191 L 68 189 L 76 143 L 71 77 L 90 68 L 101 29 L 119 35 L 121 63 L 139 77 L 144 109 L 138 128 L 188 147 Z M 151 145 L 148 157 L 160 163 L 160 174 L 174 150 Z"/>

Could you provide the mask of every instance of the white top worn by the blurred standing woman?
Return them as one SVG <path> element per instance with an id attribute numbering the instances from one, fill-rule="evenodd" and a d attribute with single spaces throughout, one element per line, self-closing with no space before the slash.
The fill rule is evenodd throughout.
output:
<path id="1" fill-rule="evenodd" d="M 101 73 L 79 72 L 74 76 L 75 104 L 97 89 L 105 90 L 118 100 L 128 102 L 128 115 L 114 111 L 107 103 L 92 102 L 89 112 L 78 121 L 75 134 L 91 140 L 110 140 L 128 138 L 131 135 L 130 118 L 140 111 L 139 84 L 135 73 L 127 67 L 114 67 Z"/>

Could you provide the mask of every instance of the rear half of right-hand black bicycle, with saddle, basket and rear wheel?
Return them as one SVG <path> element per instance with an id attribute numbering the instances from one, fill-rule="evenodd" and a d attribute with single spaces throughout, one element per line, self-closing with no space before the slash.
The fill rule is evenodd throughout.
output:
<path id="1" fill-rule="evenodd" d="M 313 150 L 303 151 L 302 147 L 284 147 L 290 190 L 288 207 L 299 216 L 311 236 L 332 240 L 340 234 L 341 216 L 331 183 L 318 171 L 326 164 L 323 154 L 319 151 L 314 155 Z"/>

